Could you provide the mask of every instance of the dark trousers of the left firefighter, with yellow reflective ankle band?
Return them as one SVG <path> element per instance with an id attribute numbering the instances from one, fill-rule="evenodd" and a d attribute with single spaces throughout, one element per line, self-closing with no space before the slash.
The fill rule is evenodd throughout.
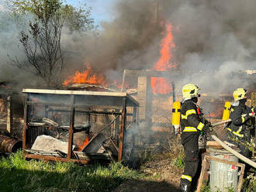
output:
<path id="1" fill-rule="evenodd" d="M 185 152 L 185 167 L 181 178 L 181 185 L 191 188 L 192 179 L 199 167 L 199 134 L 182 132 L 182 146 Z M 193 183 L 195 180 L 193 180 Z"/>

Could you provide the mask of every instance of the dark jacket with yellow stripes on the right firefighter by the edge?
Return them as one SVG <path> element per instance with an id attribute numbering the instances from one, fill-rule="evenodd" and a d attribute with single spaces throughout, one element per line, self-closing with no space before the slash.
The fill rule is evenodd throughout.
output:
<path id="1" fill-rule="evenodd" d="M 255 112 L 256 108 L 250 108 L 247 105 L 240 103 L 239 101 L 234 102 L 231 105 L 230 118 L 232 122 L 227 125 L 227 130 L 240 139 L 244 139 L 244 135 L 248 127 L 251 127 L 251 121 L 249 113 Z M 247 140 L 247 139 L 246 139 Z"/>

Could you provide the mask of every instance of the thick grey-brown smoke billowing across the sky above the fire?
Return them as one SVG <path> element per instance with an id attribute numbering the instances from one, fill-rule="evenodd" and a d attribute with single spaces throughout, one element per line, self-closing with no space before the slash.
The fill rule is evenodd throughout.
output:
<path id="1" fill-rule="evenodd" d="M 216 93 L 247 87 L 234 74 L 256 66 L 255 4 L 254 0 L 117 0 L 109 10 L 115 19 L 102 22 L 99 31 L 70 33 L 64 29 L 64 78 L 85 68 L 85 62 L 113 79 L 121 77 L 124 69 L 152 69 L 160 57 L 164 23 L 170 22 L 176 45 L 171 62 L 178 63 L 183 74 L 178 87 L 193 82 Z M 2 11 L 0 18 L 6 17 Z M 2 72 L 6 53 L 22 57 L 17 48 L 19 31 L 13 23 L 1 31 Z M 8 74 L 17 74 L 11 69 Z"/>

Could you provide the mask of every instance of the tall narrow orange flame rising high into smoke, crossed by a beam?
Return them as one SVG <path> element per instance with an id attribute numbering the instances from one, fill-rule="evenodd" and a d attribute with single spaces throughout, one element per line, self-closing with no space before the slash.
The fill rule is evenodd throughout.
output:
<path id="1" fill-rule="evenodd" d="M 169 70 L 175 67 L 171 64 L 171 49 L 175 47 L 172 35 L 172 26 L 170 23 L 166 24 L 166 32 L 164 38 L 161 40 L 161 57 L 154 66 L 154 70 Z M 151 77 L 151 87 L 153 93 L 168 94 L 171 92 L 171 82 L 163 77 Z"/>

